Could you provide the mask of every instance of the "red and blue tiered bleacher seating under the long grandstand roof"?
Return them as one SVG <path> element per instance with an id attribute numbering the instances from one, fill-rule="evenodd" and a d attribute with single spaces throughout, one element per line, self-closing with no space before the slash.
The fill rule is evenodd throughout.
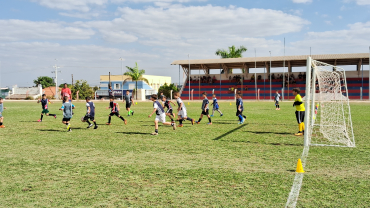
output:
<path id="1" fill-rule="evenodd" d="M 285 88 L 284 92 L 284 98 L 285 99 L 293 99 L 292 89 L 295 87 L 299 87 L 301 89 L 301 95 L 305 95 L 305 87 L 306 87 L 306 81 L 303 79 L 297 79 L 296 84 L 290 84 L 289 85 L 289 91 L 288 88 Z M 243 86 L 243 90 L 242 90 Z M 360 88 L 362 86 L 362 79 L 361 78 L 347 78 L 347 88 L 349 93 L 350 99 L 360 99 L 361 98 L 361 92 Z M 215 94 L 217 95 L 218 99 L 226 100 L 226 99 L 234 99 L 234 92 L 231 91 L 231 89 L 237 89 L 238 91 L 243 93 L 243 99 L 246 100 L 256 100 L 256 89 L 255 89 L 255 83 L 251 82 L 250 80 L 244 80 L 243 85 L 238 84 L 235 81 L 229 81 L 229 80 L 221 80 L 221 87 L 220 87 L 220 81 L 217 80 L 213 84 L 208 83 L 200 83 L 199 87 L 199 81 L 191 81 L 190 82 L 190 91 L 189 91 L 189 83 L 186 83 L 186 86 L 184 87 L 182 91 L 182 98 L 188 99 L 189 93 L 191 90 L 193 91 L 193 99 L 199 100 L 202 98 L 202 93 L 207 92 L 209 94 L 208 98 L 211 98 L 212 91 L 214 90 Z M 247 88 L 247 89 L 246 89 Z M 259 91 L 259 99 L 268 100 L 270 97 L 270 80 L 258 80 L 257 81 L 257 90 Z M 282 95 L 282 81 L 281 80 L 272 80 L 271 81 L 271 94 L 274 96 L 276 90 L 279 90 L 279 93 Z M 289 95 L 288 95 L 289 92 Z M 257 93 L 258 94 L 258 93 Z M 369 78 L 364 78 L 363 81 L 363 99 L 369 99 Z"/>

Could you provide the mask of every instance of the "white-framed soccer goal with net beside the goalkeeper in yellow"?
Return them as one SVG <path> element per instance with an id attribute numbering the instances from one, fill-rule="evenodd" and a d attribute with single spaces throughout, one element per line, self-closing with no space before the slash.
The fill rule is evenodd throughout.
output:
<path id="1" fill-rule="evenodd" d="M 355 147 L 344 69 L 307 59 L 304 145 Z"/>

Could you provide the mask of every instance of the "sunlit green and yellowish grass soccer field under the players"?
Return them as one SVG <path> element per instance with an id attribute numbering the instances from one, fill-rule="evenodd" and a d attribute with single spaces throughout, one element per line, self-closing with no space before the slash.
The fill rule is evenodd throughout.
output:
<path id="1" fill-rule="evenodd" d="M 112 117 L 96 102 L 97 130 L 80 118 L 74 102 L 72 132 L 58 118 L 40 118 L 41 105 L 5 101 L 0 129 L 1 207 L 284 207 L 303 150 L 292 102 L 245 102 L 238 125 L 235 103 L 220 102 L 213 125 L 184 122 L 176 131 L 148 118 L 152 103 L 133 106 L 134 116 Z M 188 115 L 198 119 L 201 103 Z M 370 105 L 351 103 L 356 148 L 310 147 L 298 207 L 370 205 Z M 167 117 L 168 119 L 168 117 Z M 169 120 L 169 119 L 168 119 Z"/>

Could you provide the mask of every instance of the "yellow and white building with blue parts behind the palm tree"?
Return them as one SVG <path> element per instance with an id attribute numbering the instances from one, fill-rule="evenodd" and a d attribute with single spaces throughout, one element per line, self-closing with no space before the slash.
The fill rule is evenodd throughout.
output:
<path id="1" fill-rule="evenodd" d="M 122 96 L 122 92 L 125 92 L 126 90 L 130 90 L 130 92 L 132 92 L 132 90 L 135 89 L 136 82 L 124 82 L 124 80 L 129 78 L 129 76 L 125 75 L 101 75 L 100 90 L 96 92 L 96 97 L 104 98 L 109 96 L 109 83 L 112 85 L 114 96 L 118 98 Z M 144 81 L 137 82 L 139 100 L 146 99 L 147 95 L 158 93 L 158 89 L 165 83 L 171 84 L 171 77 L 168 76 L 143 75 L 143 78 L 147 79 L 149 83 L 146 83 Z"/>

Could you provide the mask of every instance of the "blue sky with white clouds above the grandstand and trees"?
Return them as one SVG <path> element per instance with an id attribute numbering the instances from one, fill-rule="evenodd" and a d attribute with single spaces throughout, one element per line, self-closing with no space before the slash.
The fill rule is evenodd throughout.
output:
<path id="1" fill-rule="evenodd" d="M 29 87 L 38 76 L 58 83 L 121 74 L 135 62 L 171 76 L 174 60 L 368 53 L 370 0 L 1 0 L 1 87 Z M 123 58 L 121 61 L 120 58 Z M 55 70 L 54 70 L 55 71 Z"/>

